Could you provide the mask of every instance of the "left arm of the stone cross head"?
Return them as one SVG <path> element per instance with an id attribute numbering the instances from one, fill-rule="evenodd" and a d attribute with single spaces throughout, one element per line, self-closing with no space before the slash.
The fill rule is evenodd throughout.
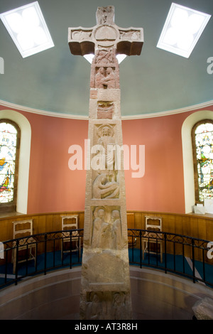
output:
<path id="1" fill-rule="evenodd" d="M 68 44 L 73 55 L 94 53 L 93 28 L 68 28 Z"/>

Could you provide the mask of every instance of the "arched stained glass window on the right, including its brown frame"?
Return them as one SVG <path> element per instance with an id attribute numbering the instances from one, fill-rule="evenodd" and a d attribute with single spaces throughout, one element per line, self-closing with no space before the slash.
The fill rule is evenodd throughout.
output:
<path id="1" fill-rule="evenodd" d="M 195 171 L 195 200 L 213 198 L 213 122 L 204 120 L 192 129 L 192 146 Z"/>

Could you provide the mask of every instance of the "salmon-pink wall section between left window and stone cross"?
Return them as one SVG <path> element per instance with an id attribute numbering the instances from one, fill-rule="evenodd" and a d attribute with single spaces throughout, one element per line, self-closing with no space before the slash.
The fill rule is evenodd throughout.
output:
<path id="1" fill-rule="evenodd" d="M 27 117 L 32 126 L 28 213 L 84 210 L 86 171 L 70 170 L 68 149 L 84 147 L 88 122 Z"/>

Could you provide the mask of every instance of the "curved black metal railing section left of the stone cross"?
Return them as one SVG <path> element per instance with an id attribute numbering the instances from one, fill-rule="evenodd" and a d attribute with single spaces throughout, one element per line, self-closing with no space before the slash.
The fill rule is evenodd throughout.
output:
<path id="1" fill-rule="evenodd" d="M 83 232 L 82 229 L 46 232 L 3 242 L 0 287 L 17 284 L 27 276 L 81 265 Z"/>

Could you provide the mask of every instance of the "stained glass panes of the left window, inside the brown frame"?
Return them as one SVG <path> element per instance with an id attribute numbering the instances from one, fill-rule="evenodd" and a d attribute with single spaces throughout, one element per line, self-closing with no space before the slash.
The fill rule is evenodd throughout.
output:
<path id="1" fill-rule="evenodd" d="M 0 123 L 0 203 L 11 203 L 14 196 L 17 130 Z"/>

